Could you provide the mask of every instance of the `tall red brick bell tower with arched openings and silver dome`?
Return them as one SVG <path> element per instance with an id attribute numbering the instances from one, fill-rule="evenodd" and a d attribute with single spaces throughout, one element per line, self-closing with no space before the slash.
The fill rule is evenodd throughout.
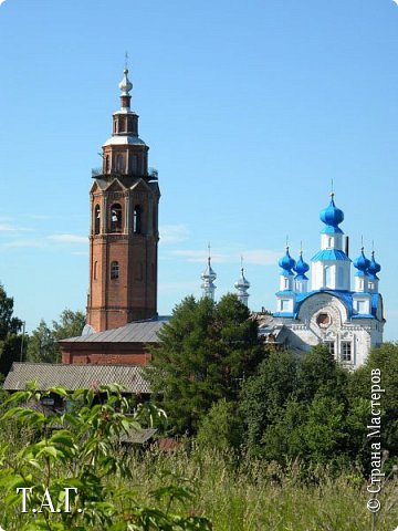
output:
<path id="1" fill-rule="evenodd" d="M 157 171 L 130 110 L 127 66 L 119 83 L 121 110 L 93 170 L 87 324 L 96 332 L 157 315 Z"/>

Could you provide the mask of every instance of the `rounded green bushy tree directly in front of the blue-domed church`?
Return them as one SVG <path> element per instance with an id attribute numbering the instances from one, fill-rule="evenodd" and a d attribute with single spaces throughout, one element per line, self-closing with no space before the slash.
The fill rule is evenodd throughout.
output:
<path id="1" fill-rule="evenodd" d="M 362 410 L 349 416 L 347 382 L 348 373 L 324 346 L 301 358 L 289 351 L 271 352 L 241 393 L 250 454 L 281 464 L 348 459 L 349 428 L 357 429 Z"/>

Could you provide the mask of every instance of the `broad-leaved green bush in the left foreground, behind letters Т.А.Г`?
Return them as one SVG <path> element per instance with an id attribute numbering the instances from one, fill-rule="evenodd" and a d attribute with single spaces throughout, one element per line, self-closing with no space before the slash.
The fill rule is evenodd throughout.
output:
<path id="1" fill-rule="evenodd" d="M 19 451 L 0 445 L 0 514 L 6 529 L 21 531 L 210 531 L 208 519 L 174 512 L 174 501 L 188 501 L 193 491 L 177 481 L 149 492 L 159 508 L 137 501 L 132 489 L 134 471 L 121 451 L 121 439 L 139 429 L 142 406 L 134 416 L 128 399 L 117 385 L 98 389 L 64 388 L 40 393 L 34 385 L 9 398 L 11 405 L 34 403 L 34 408 L 12 407 L 1 421 L 11 420 L 34 431 Z M 70 402 L 72 413 L 45 415 L 41 400 L 49 394 Z M 102 399 L 106 396 L 105 400 Z M 154 417 L 154 407 L 149 416 Z M 163 412 L 157 417 L 161 419 Z M 181 479 L 181 478 L 180 478 Z M 178 480 L 178 478 L 177 478 Z M 21 511 L 22 494 L 17 488 L 32 489 L 27 496 L 27 513 Z M 65 510 L 65 488 L 71 499 Z M 44 498 L 49 492 L 49 498 Z M 43 500 L 45 501 L 43 507 Z M 32 511 L 40 511 L 32 516 Z"/>

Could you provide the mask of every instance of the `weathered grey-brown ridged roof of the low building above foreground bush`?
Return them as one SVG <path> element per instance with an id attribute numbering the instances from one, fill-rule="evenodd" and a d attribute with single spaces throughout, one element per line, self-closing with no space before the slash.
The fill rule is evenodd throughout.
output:
<path id="1" fill-rule="evenodd" d="M 143 376 L 143 368 L 136 365 L 67 365 L 62 363 L 17 363 L 12 364 L 3 387 L 7 391 L 23 391 L 28 382 L 35 381 L 39 391 L 61 386 L 69 391 L 87 389 L 100 385 L 119 384 L 126 393 L 150 393 L 149 384 Z"/>

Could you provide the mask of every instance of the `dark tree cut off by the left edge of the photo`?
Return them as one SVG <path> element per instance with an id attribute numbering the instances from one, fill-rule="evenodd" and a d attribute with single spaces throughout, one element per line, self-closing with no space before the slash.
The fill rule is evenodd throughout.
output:
<path id="1" fill-rule="evenodd" d="M 0 373 L 4 376 L 12 363 L 21 358 L 22 336 L 19 335 L 21 329 L 22 321 L 13 316 L 13 299 L 7 295 L 0 284 Z"/>

